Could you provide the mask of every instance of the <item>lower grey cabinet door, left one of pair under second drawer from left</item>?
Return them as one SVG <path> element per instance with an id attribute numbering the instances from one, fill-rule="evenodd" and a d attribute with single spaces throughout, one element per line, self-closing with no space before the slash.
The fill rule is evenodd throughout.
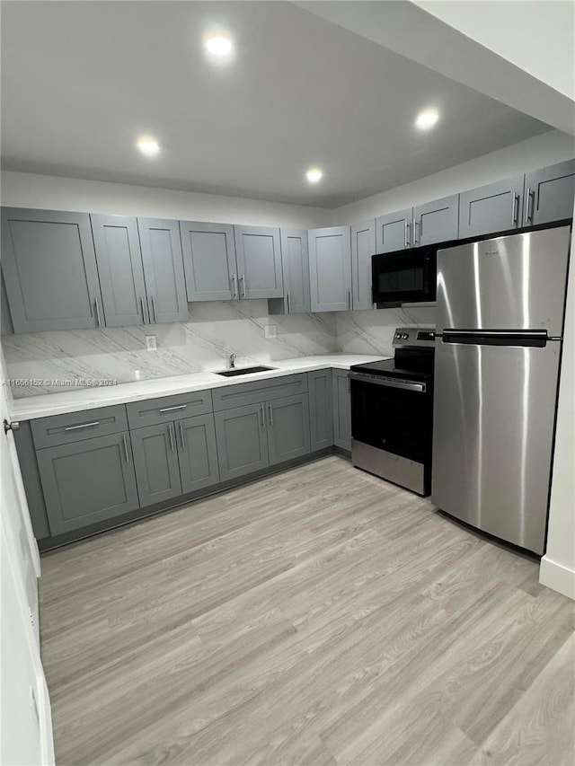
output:
<path id="1" fill-rule="evenodd" d="M 130 432 L 140 506 L 152 506 L 181 495 L 180 465 L 173 423 Z"/>

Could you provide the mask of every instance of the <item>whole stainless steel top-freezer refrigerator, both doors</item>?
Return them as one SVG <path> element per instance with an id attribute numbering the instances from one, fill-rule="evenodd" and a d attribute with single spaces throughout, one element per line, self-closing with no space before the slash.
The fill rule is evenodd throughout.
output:
<path id="1" fill-rule="evenodd" d="M 438 251 L 431 499 L 544 553 L 571 229 Z"/>

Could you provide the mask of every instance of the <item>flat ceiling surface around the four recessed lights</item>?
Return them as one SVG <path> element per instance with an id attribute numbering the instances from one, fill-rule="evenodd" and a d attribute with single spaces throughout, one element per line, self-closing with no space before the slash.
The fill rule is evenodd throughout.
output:
<path id="1" fill-rule="evenodd" d="M 233 64 L 204 57 L 212 29 Z M 7 170 L 339 207 L 548 129 L 290 3 L 2 4 Z"/>

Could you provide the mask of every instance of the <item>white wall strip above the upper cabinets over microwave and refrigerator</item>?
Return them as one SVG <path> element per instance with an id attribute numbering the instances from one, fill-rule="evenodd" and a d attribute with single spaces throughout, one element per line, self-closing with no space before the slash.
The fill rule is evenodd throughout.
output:
<path id="1" fill-rule="evenodd" d="M 491 181 L 512 178 L 573 157 L 575 138 L 559 130 L 550 130 L 468 163 L 454 165 L 446 171 L 332 210 L 332 224 L 358 224 L 367 218 L 474 189 Z"/>

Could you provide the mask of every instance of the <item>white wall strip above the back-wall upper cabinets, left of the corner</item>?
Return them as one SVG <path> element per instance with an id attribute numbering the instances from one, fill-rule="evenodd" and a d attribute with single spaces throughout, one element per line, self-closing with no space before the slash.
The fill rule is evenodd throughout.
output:
<path id="1" fill-rule="evenodd" d="M 1 184 L 2 204 L 8 207 L 295 228 L 314 228 L 330 221 L 330 211 L 320 207 L 98 180 L 4 171 Z"/>

